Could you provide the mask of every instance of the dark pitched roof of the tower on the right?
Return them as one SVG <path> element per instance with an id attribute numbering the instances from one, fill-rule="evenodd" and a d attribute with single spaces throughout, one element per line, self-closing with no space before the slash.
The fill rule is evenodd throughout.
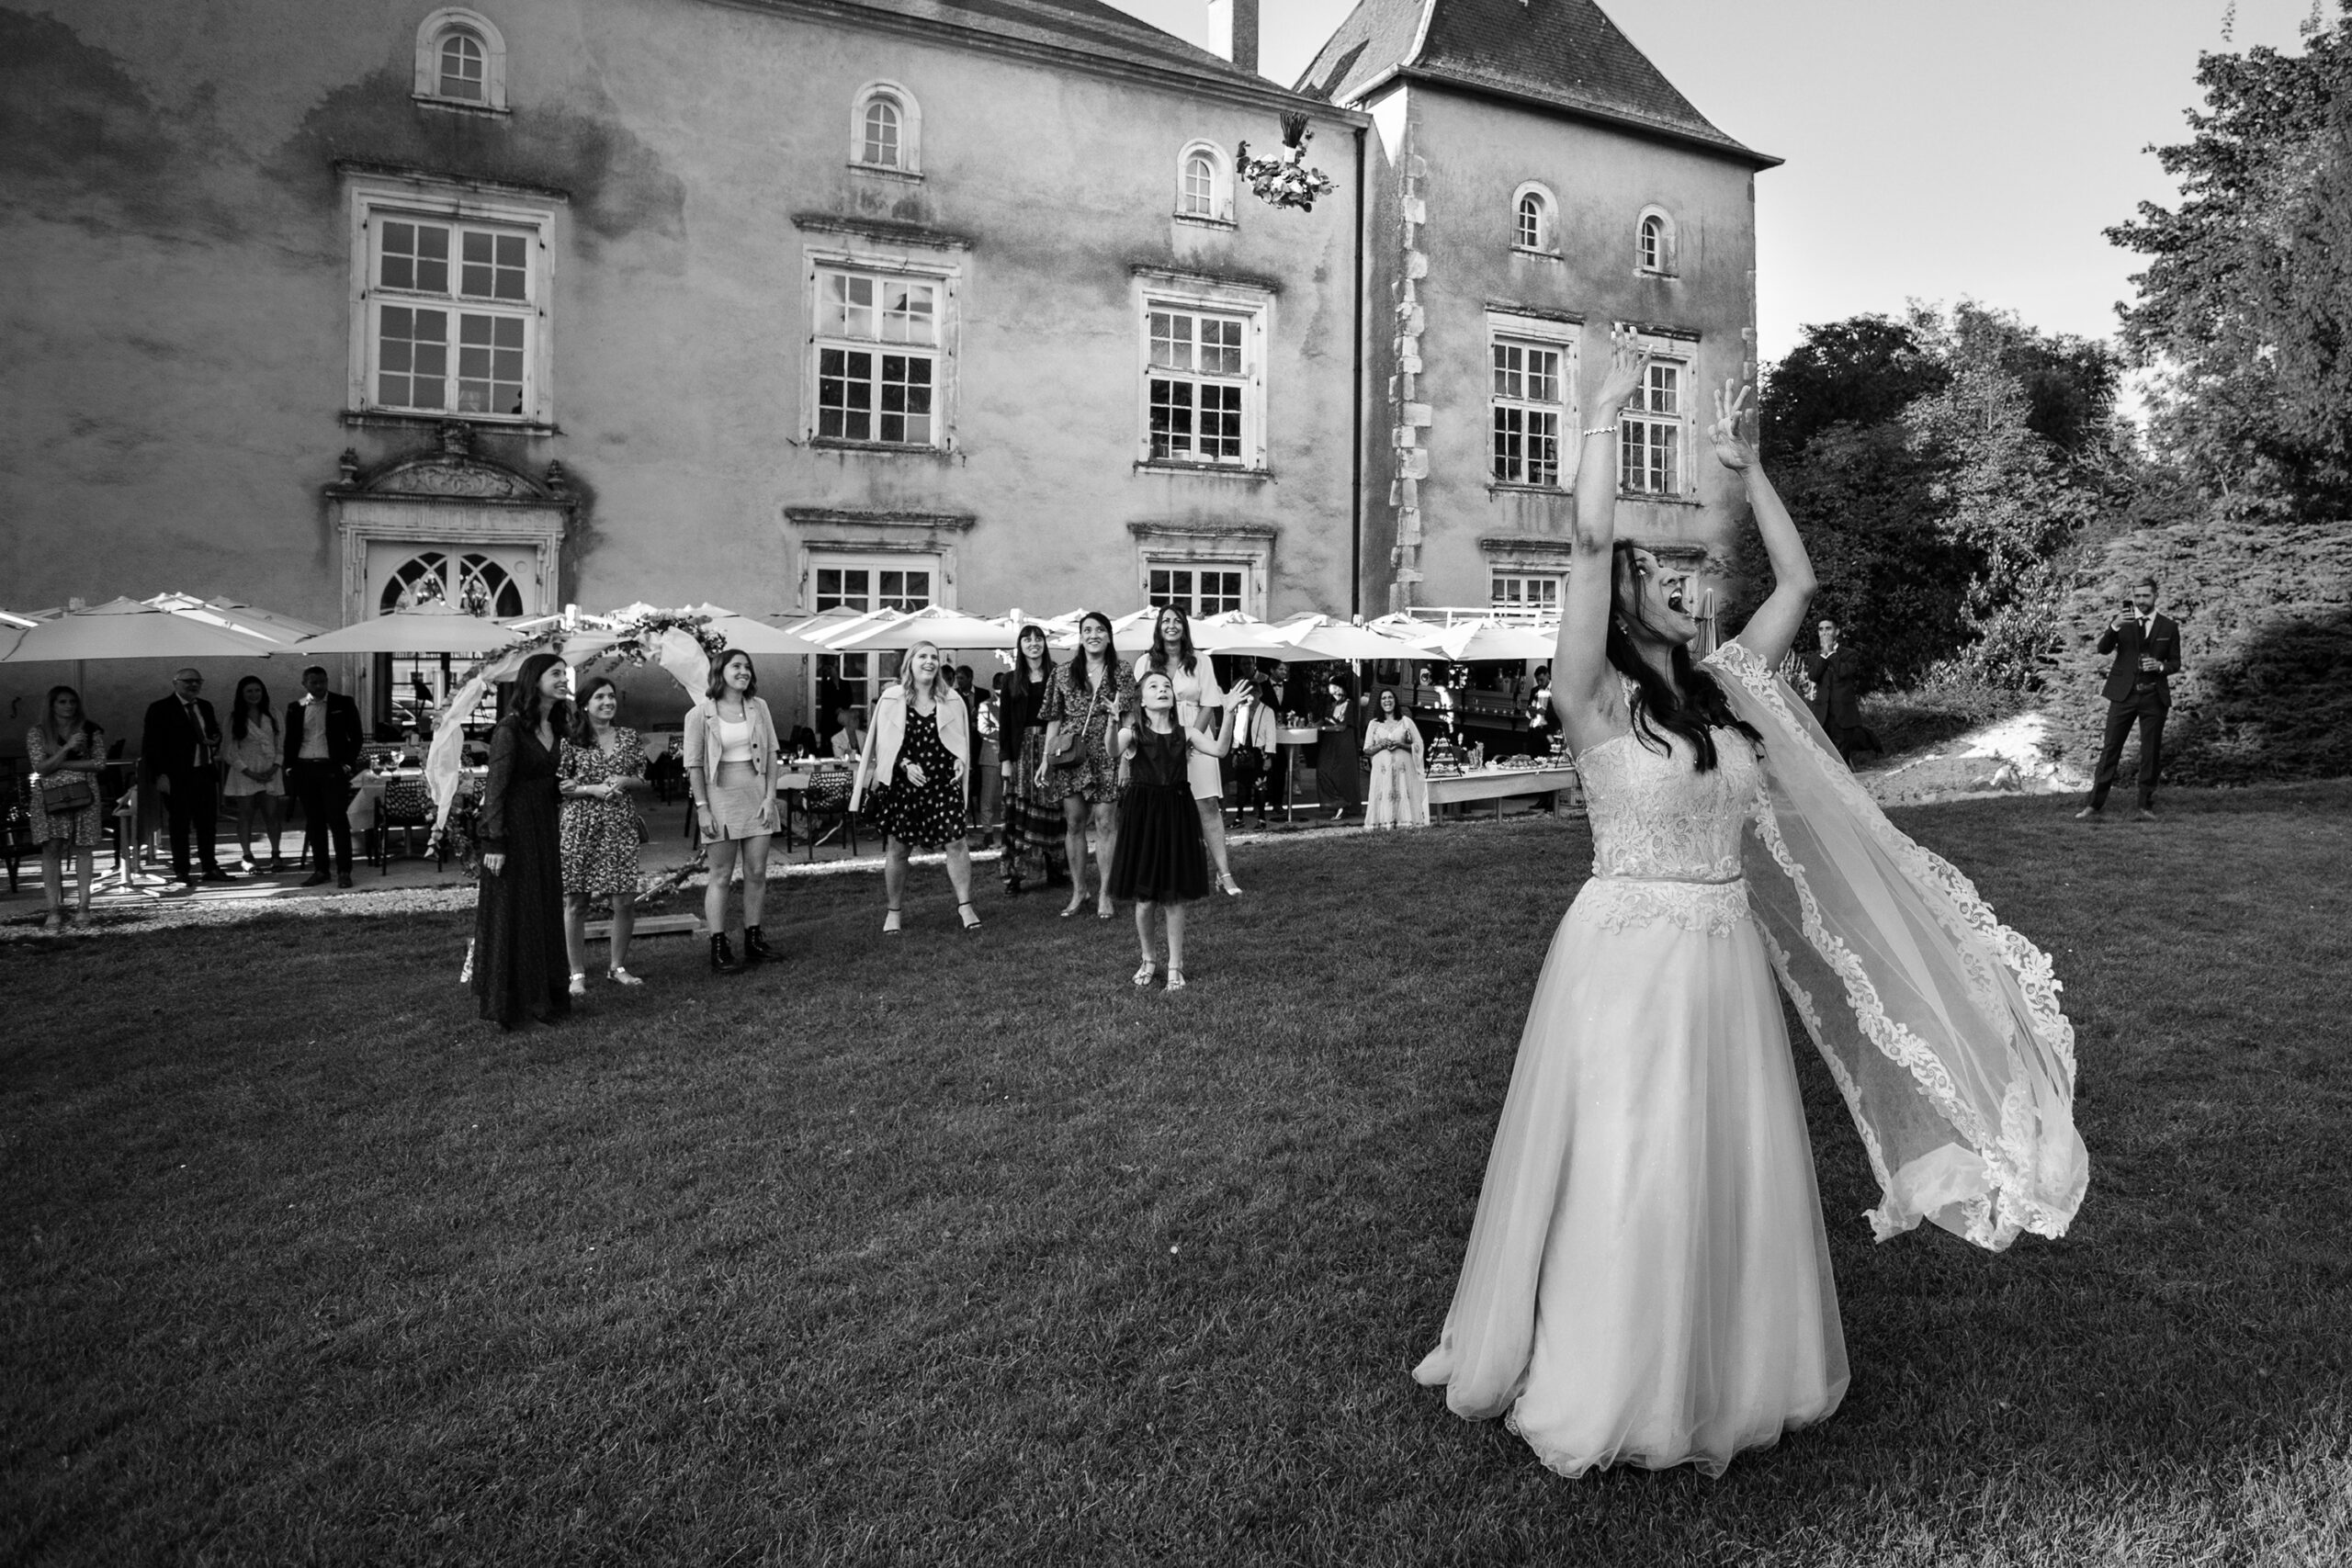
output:
<path id="1" fill-rule="evenodd" d="M 1595 0 L 1357 0 L 1298 78 L 1298 92 L 1355 103 L 1390 75 L 1496 92 L 1755 165 L 1780 162 L 1715 129 Z"/>

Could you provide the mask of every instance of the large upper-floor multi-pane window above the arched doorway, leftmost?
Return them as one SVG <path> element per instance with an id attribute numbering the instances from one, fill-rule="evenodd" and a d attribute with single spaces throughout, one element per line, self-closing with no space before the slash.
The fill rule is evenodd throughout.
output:
<path id="1" fill-rule="evenodd" d="M 539 235 L 390 214 L 369 228 L 376 407 L 529 414 Z"/>

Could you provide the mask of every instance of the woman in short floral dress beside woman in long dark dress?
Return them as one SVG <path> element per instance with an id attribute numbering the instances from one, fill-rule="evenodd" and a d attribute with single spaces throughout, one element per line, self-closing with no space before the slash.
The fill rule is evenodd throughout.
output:
<path id="1" fill-rule="evenodd" d="M 572 994 L 588 994 L 588 903 L 612 898 L 612 980 L 644 985 L 628 973 L 628 938 L 637 926 L 637 806 L 628 785 L 644 783 L 644 741 L 621 729 L 621 689 L 597 675 L 581 693 L 572 733 L 555 757 L 555 788 L 564 797 L 557 835 L 564 846 L 564 957 Z"/>

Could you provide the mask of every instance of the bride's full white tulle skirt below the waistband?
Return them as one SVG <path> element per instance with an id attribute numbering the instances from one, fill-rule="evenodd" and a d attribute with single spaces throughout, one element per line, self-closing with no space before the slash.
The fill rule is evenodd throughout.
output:
<path id="1" fill-rule="evenodd" d="M 1414 1375 L 1456 1415 L 1508 1415 L 1566 1476 L 1715 1476 L 1837 1408 L 1813 1152 L 1738 884 L 1597 879 L 1559 922 Z"/>

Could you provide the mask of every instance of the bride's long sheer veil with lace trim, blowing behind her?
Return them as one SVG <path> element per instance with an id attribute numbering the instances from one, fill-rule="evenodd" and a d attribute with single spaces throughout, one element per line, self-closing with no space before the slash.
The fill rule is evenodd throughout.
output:
<path id="1" fill-rule="evenodd" d="M 1870 1150 L 1872 1229 L 2065 1234 L 2091 1157 L 2049 954 L 1886 820 L 1762 658 L 1726 642 L 1705 663 L 1764 736 L 1750 907 Z"/>

